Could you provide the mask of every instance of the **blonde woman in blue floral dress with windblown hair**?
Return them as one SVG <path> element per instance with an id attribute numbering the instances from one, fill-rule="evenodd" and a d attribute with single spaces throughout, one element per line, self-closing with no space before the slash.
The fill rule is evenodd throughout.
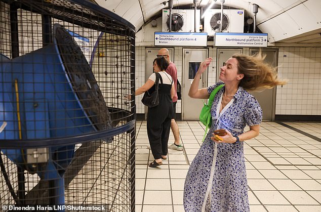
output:
<path id="1" fill-rule="evenodd" d="M 243 142 L 259 135 L 262 109 L 247 91 L 286 83 L 263 60 L 261 54 L 234 55 L 220 68 L 221 81 L 203 89 L 198 89 L 199 79 L 212 58 L 200 64 L 189 90 L 191 98 L 208 99 L 217 86 L 225 86 L 214 98 L 211 129 L 186 176 L 186 212 L 250 211 Z M 246 125 L 250 130 L 244 132 Z M 221 141 L 213 134 L 218 129 L 227 132 Z"/>

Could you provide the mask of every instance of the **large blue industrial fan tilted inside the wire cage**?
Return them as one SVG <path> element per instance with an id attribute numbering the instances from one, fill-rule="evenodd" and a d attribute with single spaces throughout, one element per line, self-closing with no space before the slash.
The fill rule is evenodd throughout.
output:
<path id="1" fill-rule="evenodd" d="M 0 60 L 0 120 L 7 123 L 0 139 L 64 138 L 112 127 L 86 58 L 61 25 L 53 27 L 52 44 L 12 60 L 2 55 Z M 64 173 L 74 145 L 2 151 L 22 169 L 52 181 L 55 204 L 64 204 Z"/>

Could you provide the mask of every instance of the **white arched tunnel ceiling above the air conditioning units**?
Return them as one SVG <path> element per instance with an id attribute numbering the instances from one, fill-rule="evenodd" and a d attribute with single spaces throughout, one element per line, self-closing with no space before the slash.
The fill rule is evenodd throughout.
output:
<path id="1" fill-rule="evenodd" d="M 210 0 L 213 1 L 213 0 Z M 96 0 L 101 7 L 125 18 L 136 31 L 151 18 L 168 8 L 164 0 Z M 198 0 L 197 8 L 209 0 Z M 163 4 L 165 3 L 165 5 Z M 220 4 L 215 3 L 215 8 Z M 226 8 L 244 9 L 254 16 L 253 4 L 259 5 L 257 27 L 268 33 L 269 42 L 321 44 L 321 0 L 225 0 Z M 193 0 L 174 0 L 174 8 L 193 9 Z"/>

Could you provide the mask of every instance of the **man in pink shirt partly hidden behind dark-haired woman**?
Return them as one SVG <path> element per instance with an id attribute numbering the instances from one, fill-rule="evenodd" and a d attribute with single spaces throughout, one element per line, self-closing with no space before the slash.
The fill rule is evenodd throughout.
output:
<path id="1" fill-rule="evenodd" d="M 170 63 L 170 65 L 166 69 L 166 72 L 172 76 L 173 81 L 174 81 L 175 91 L 177 91 L 176 90 L 177 89 L 177 69 L 176 69 L 175 64 L 170 60 L 170 52 L 166 48 L 160 49 L 157 53 L 157 57 L 165 57 L 165 59 Z M 171 144 L 168 148 L 182 151 L 183 146 L 180 144 L 179 129 L 178 129 L 178 125 L 175 121 L 176 103 L 177 103 L 177 93 L 175 92 L 175 95 L 173 97 L 174 118 L 171 121 L 171 129 L 174 134 L 175 140 L 174 140 L 174 144 Z"/>

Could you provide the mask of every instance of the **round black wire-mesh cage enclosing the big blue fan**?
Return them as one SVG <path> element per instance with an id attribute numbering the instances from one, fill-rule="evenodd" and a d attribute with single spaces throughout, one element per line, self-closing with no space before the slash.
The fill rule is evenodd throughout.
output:
<path id="1" fill-rule="evenodd" d="M 135 27 L 81 0 L 1 0 L 0 12 L 4 211 L 135 211 Z M 75 53 L 55 44 L 57 24 Z M 79 52 L 86 62 L 66 59 Z"/>

